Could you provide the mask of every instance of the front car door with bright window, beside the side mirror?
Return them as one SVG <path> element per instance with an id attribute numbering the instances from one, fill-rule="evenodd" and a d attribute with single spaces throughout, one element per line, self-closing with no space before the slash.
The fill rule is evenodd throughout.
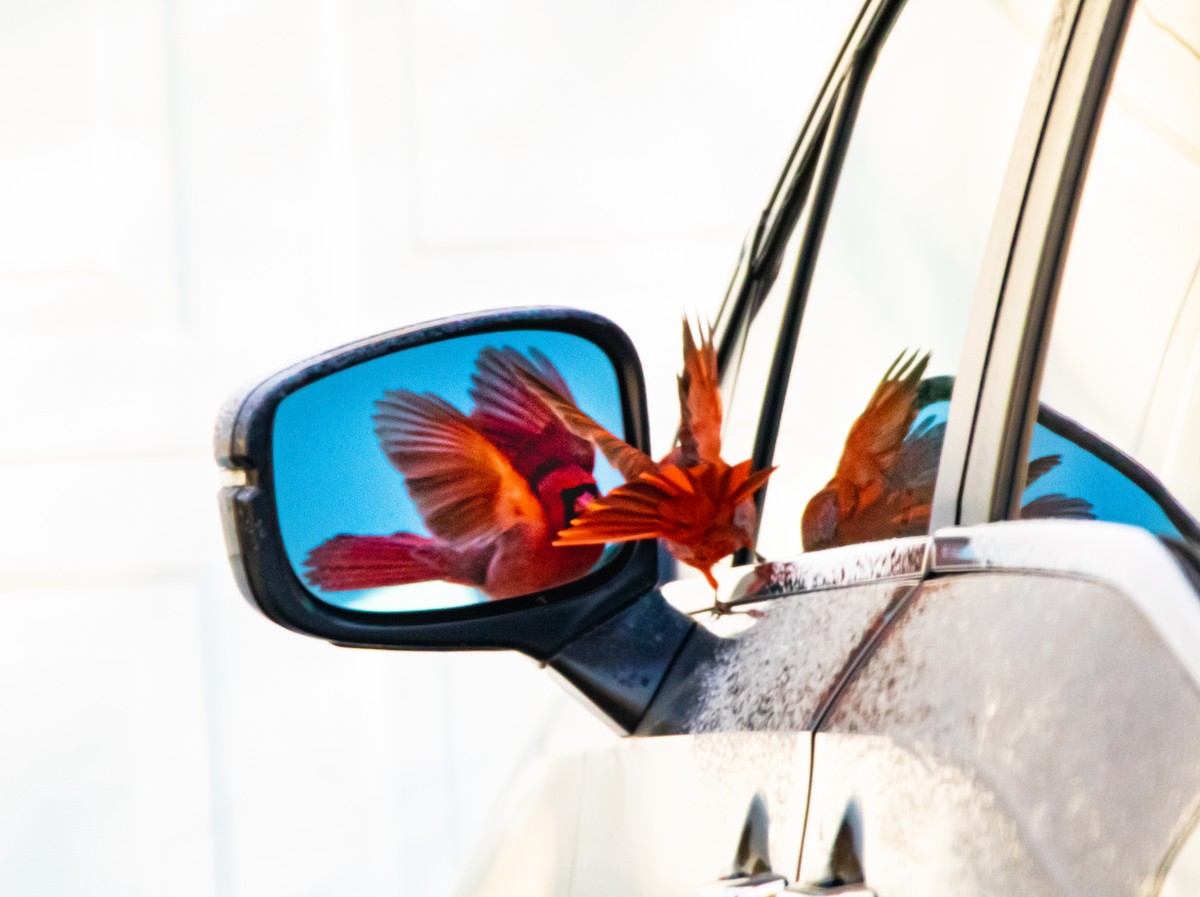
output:
<path id="1" fill-rule="evenodd" d="M 802 144 L 725 325 L 726 454 L 762 464 L 774 448 L 780 465 L 762 508 L 769 560 L 725 573 L 715 602 L 683 571 L 664 588 L 702 628 L 643 738 L 582 760 L 570 893 L 748 893 L 794 879 L 810 733 L 919 583 L 929 544 L 926 507 L 870 543 L 803 556 L 800 512 L 898 355 L 923 367 L 925 432 L 941 433 L 1049 16 L 1038 2 L 865 7 L 814 115 L 820 139 Z M 980 96 L 948 80 L 978 55 L 973 42 L 989 48 L 972 70 Z M 935 470 L 924 476 L 931 488 Z M 768 872 L 775 885 L 751 878 Z"/>

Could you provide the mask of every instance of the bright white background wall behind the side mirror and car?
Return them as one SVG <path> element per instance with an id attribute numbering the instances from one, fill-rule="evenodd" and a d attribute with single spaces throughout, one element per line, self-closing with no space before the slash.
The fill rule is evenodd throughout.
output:
<path id="1" fill-rule="evenodd" d="M 563 303 L 634 337 L 664 448 L 854 5 L 0 0 L 0 893 L 448 895 L 522 765 L 610 738 L 518 657 L 251 612 L 216 408 Z"/>

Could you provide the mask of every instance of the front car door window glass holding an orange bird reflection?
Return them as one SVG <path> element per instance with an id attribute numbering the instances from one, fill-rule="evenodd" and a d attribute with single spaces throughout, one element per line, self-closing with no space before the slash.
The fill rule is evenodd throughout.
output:
<path id="1" fill-rule="evenodd" d="M 911 0 L 886 38 L 805 299 L 760 528 L 768 558 L 928 529 L 950 383 L 1050 8 Z"/>

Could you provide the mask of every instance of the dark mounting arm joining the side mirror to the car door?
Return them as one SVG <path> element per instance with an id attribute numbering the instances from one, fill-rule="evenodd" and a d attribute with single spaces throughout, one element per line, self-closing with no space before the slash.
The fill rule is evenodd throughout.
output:
<path id="1" fill-rule="evenodd" d="M 696 630 L 654 589 L 564 645 L 546 666 L 620 732 L 634 733 Z"/>

